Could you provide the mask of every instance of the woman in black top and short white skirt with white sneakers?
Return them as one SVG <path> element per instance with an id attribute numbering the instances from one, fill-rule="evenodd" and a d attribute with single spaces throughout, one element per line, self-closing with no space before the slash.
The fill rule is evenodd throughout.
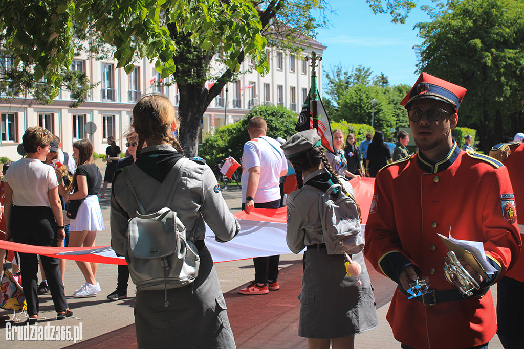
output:
<path id="1" fill-rule="evenodd" d="M 73 176 L 73 194 L 68 194 L 65 201 L 84 201 L 80 204 L 77 217 L 69 223 L 69 246 L 94 246 L 96 232 L 105 229 L 97 196 L 102 184 L 102 174 L 93 161 L 93 144 L 88 139 L 73 143 L 73 157 L 78 167 Z M 77 261 L 77 265 L 84 275 L 85 284 L 75 290 L 74 297 L 96 295 L 101 290 L 95 279 L 98 264 Z"/>

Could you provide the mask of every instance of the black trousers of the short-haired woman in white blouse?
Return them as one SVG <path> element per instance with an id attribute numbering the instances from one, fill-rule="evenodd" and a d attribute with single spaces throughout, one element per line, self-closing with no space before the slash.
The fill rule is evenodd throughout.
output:
<path id="1" fill-rule="evenodd" d="M 57 246 L 57 224 L 49 207 L 13 206 L 11 211 L 11 234 L 13 241 L 35 246 Z M 59 259 L 40 256 L 47 285 L 51 291 L 54 310 L 67 309 L 64 285 L 60 274 Z M 29 316 L 38 314 L 38 256 L 20 253 L 22 288 L 27 301 Z"/>

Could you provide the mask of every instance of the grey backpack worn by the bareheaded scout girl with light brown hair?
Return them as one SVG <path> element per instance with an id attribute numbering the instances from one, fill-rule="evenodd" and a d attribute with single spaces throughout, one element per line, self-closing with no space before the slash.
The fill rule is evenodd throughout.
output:
<path id="1" fill-rule="evenodd" d="M 169 208 L 188 161 L 182 158 L 173 166 L 171 171 L 178 169 L 178 173 L 166 205 L 152 213 L 145 213 L 138 200 L 129 177 L 129 167 L 123 170 L 141 211 L 128 221 L 125 258 L 129 274 L 139 290 L 165 290 L 166 307 L 169 306 L 167 290 L 192 283 L 198 276 L 200 265 L 196 246 L 186 239 L 186 230 L 177 212 Z"/>

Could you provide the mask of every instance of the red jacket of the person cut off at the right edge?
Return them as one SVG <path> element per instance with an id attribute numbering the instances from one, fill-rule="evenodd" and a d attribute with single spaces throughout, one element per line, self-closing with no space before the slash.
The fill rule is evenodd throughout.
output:
<path id="1" fill-rule="evenodd" d="M 508 168 L 509 178 L 515 194 L 517 212 L 521 215 L 518 220 L 520 233 L 524 234 L 524 143 L 510 143 L 511 155 L 504 160 Z M 524 253 L 520 253 L 517 263 L 506 273 L 507 277 L 524 282 Z"/>

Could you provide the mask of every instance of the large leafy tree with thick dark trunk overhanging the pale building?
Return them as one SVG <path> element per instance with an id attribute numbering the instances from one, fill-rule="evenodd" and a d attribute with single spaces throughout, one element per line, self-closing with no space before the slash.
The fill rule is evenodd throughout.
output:
<path id="1" fill-rule="evenodd" d="M 366 1 L 398 22 L 414 6 L 405 0 Z M 156 59 L 161 76 L 173 75 L 179 86 L 179 137 L 190 155 L 197 151 L 204 110 L 234 80 L 244 59 L 250 57 L 255 69 L 266 73 L 266 44 L 300 50 L 302 40 L 314 38 L 315 28 L 326 25 L 322 13 L 329 8 L 327 0 L 0 0 L 0 6 L 0 42 L 15 58 L 15 69 L 35 81 L 45 79 L 48 102 L 58 95 L 61 74 L 75 50 L 82 48 L 77 39 L 112 47 L 117 67 L 127 73 L 136 58 Z M 313 9 L 320 9 L 319 19 L 311 15 Z M 88 49 L 104 48 L 100 44 Z M 211 76 L 212 59 L 219 53 L 225 69 Z M 209 90 L 206 80 L 215 82 Z M 0 78 L 2 83 L 7 82 Z"/>

